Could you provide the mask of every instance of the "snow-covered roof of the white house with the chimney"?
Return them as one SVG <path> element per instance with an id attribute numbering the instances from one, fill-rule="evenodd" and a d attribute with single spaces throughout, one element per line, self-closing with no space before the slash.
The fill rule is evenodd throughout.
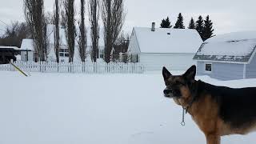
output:
<path id="1" fill-rule="evenodd" d="M 141 53 L 196 53 L 202 44 L 197 30 L 134 27 Z"/>

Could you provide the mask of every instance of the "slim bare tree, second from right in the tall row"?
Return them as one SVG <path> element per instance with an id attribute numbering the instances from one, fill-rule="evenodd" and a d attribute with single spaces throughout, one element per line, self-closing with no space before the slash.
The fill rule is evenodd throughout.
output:
<path id="1" fill-rule="evenodd" d="M 89 1 L 89 20 L 90 20 L 90 36 L 92 42 L 92 58 L 94 62 L 97 61 L 98 51 L 98 38 L 99 38 L 99 26 L 98 26 L 99 10 L 98 0 Z"/>

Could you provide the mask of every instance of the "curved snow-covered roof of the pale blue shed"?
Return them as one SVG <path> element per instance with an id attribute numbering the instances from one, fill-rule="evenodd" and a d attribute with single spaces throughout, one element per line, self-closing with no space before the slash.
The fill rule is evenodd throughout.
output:
<path id="1" fill-rule="evenodd" d="M 234 32 L 209 38 L 195 54 L 195 60 L 248 63 L 256 48 L 256 31 Z"/>

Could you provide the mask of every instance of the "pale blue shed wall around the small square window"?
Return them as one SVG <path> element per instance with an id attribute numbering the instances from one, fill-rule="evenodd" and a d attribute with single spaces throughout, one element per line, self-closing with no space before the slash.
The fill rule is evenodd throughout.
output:
<path id="1" fill-rule="evenodd" d="M 197 62 L 197 65 L 198 75 L 209 75 L 220 80 L 243 78 L 243 64 L 212 62 L 212 72 L 205 71 L 205 62 Z"/>

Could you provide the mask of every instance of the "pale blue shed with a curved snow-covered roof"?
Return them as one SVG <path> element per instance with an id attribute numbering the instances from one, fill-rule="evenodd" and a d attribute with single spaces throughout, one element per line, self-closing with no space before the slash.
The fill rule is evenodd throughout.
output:
<path id="1" fill-rule="evenodd" d="M 256 78 L 256 31 L 209 38 L 194 56 L 197 74 L 220 80 Z"/>

